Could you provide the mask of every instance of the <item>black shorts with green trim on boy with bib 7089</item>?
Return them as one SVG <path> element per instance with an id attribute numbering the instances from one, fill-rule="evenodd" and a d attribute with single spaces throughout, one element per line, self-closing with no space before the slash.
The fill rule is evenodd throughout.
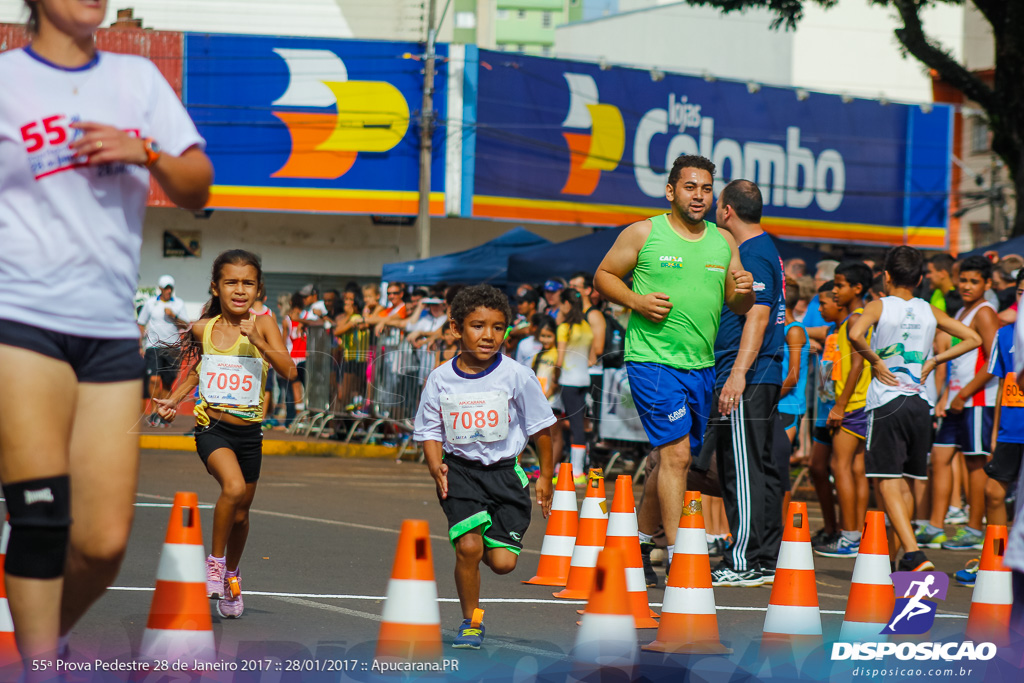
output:
<path id="1" fill-rule="evenodd" d="M 444 454 L 449 466 L 447 498 L 437 499 L 449 520 L 449 539 L 455 546 L 459 537 L 483 526 L 483 545 L 506 548 L 516 555 L 529 527 L 532 501 L 529 480 L 517 458 L 494 465 Z"/>

